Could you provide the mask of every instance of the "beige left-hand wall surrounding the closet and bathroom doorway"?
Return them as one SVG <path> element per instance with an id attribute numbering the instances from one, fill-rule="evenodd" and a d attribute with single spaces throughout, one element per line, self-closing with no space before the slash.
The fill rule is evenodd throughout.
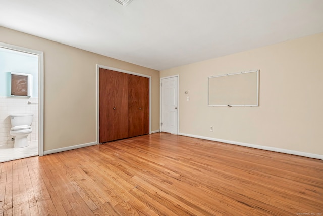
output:
<path id="1" fill-rule="evenodd" d="M 151 129 L 159 129 L 159 71 L 3 27 L 0 41 L 44 52 L 44 151 L 97 140 L 96 64 L 152 77 Z"/>

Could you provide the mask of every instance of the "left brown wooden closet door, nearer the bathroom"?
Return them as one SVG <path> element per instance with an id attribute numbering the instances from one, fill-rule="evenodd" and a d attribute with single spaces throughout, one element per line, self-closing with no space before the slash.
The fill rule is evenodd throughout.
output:
<path id="1" fill-rule="evenodd" d="M 126 73 L 99 70 L 100 143 L 128 137 L 128 78 Z"/>

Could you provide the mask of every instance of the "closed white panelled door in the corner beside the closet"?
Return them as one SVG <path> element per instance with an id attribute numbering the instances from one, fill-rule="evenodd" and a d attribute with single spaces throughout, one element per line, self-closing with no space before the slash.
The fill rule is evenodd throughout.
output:
<path id="1" fill-rule="evenodd" d="M 178 134 L 178 77 L 161 79 L 161 132 Z"/>

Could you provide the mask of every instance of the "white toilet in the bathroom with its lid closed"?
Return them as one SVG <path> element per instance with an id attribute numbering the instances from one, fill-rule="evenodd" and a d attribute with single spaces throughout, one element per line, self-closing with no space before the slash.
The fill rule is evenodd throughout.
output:
<path id="1" fill-rule="evenodd" d="M 32 132 L 31 123 L 33 114 L 9 115 L 11 121 L 10 135 L 15 136 L 14 148 L 28 146 L 27 136 Z"/>

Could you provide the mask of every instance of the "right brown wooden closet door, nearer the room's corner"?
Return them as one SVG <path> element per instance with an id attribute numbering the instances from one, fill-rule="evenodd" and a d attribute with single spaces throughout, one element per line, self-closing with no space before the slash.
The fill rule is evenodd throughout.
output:
<path id="1" fill-rule="evenodd" d="M 128 75 L 128 136 L 149 134 L 149 78 Z"/>

